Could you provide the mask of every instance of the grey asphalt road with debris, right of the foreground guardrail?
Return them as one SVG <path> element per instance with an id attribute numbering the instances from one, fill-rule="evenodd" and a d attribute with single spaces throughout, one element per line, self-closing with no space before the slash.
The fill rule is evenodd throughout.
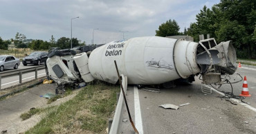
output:
<path id="1" fill-rule="evenodd" d="M 256 69 L 243 66 L 237 69 L 237 73 L 246 76 L 248 80 L 251 97 L 244 101 L 256 108 Z M 235 75 L 230 76 L 230 81 L 234 82 L 234 78 Z M 235 95 L 241 93 L 242 84 L 243 81 L 232 85 Z M 231 87 L 223 85 L 219 91 L 231 91 Z M 220 94 L 215 91 L 212 94 L 202 93 L 201 80 L 198 78 L 191 85 L 161 89 L 161 93 L 133 86 L 127 89 L 131 117 L 140 133 L 256 133 L 256 111 L 239 103 L 231 104 L 218 96 Z M 190 104 L 177 110 L 158 107 L 161 104 L 179 106 L 188 102 Z M 126 109 L 123 115 L 128 121 L 123 122 L 122 132 L 134 133 Z"/>

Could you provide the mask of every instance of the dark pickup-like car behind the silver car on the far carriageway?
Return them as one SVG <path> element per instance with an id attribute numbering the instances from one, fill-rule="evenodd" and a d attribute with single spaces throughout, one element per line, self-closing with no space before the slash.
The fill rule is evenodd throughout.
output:
<path id="1" fill-rule="evenodd" d="M 34 65 L 41 65 L 41 63 L 45 63 L 47 60 L 47 52 L 33 52 L 23 58 L 22 64 L 34 64 Z"/>

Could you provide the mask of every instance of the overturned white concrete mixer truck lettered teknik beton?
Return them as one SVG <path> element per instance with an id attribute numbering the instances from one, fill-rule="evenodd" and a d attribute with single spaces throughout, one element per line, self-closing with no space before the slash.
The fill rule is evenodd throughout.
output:
<path id="1" fill-rule="evenodd" d="M 221 74 L 234 74 L 237 69 L 230 41 L 217 45 L 214 38 L 195 43 L 158 36 L 112 41 L 92 52 L 85 48 L 53 49 L 46 65 L 48 76 L 59 87 L 94 79 L 115 84 L 114 60 L 131 85 L 160 85 L 179 78 L 192 82 L 198 74 L 203 75 L 204 83 L 216 84 L 221 82 Z"/>

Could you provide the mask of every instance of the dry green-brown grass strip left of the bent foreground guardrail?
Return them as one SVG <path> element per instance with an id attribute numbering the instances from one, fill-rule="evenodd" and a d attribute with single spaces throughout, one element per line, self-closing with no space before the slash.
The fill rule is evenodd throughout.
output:
<path id="1" fill-rule="evenodd" d="M 107 133 L 107 119 L 116 108 L 119 86 L 102 82 L 87 85 L 73 99 L 51 107 L 26 133 Z"/>

